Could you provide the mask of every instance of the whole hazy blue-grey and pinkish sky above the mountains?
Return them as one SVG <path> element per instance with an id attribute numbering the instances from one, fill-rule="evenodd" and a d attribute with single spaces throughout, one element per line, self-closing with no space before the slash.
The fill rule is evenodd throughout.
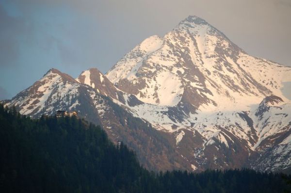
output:
<path id="1" fill-rule="evenodd" d="M 291 66 L 291 0 L 0 0 L 0 99 L 54 67 L 103 73 L 150 35 L 199 16 L 253 56 Z"/>

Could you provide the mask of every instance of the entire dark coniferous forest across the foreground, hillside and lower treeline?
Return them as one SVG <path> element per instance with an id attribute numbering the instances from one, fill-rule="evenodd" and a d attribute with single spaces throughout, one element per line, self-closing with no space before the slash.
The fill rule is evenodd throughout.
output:
<path id="1" fill-rule="evenodd" d="M 150 172 L 83 119 L 31 119 L 0 105 L 1 193 L 283 193 L 290 178 L 250 169 Z"/>

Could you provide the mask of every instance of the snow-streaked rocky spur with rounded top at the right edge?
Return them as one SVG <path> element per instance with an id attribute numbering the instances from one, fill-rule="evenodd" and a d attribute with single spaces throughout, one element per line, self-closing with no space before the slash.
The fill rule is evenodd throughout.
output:
<path id="1" fill-rule="evenodd" d="M 291 168 L 291 103 L 277 96 L 266 97 L 253 114 L 259 141 L 254 148 L 261 154 L 253 167 L 282 171 Z M 275 169 L 274 169 L 275 168 Z"/>

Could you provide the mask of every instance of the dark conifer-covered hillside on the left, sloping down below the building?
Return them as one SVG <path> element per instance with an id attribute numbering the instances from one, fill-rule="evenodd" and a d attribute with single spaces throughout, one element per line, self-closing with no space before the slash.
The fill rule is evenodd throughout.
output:
<path id="1" fill-rule="evenodd" d="M 0 104 L 0 146 L 1 193 L 138 192 L 136 179 L 151 177 L 134 152 L 76 117 L 30 119 Z"/>

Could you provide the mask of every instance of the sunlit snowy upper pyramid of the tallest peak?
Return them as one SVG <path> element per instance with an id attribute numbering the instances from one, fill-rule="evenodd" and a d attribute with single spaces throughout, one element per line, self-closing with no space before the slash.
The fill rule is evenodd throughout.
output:
<path id="1" fill-rule="evenodd" d="M 203 106 L 244 109 L 272 93 L 284 97 L 279 89 L 290 72 L 248 56 L 205 20 L 189 16 L 163 38 L 151 36 L 133 48 L 106 76 L 143 102 L 195 113 L 206 111 Z"/>

